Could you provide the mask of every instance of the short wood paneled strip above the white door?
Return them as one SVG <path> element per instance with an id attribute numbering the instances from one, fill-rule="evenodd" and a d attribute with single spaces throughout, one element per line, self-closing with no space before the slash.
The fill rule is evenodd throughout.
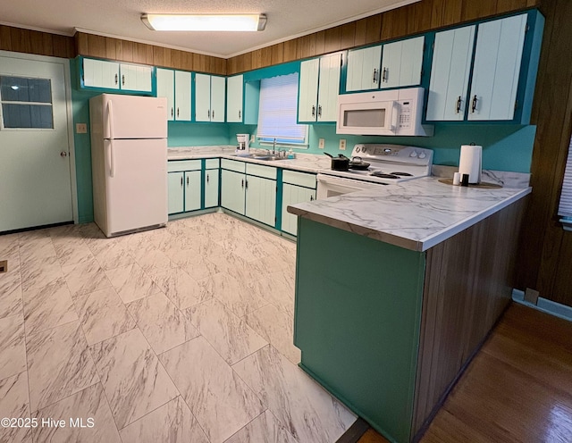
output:
<path id="1" fill-rule="evenodd" d="M 75 57 L 75 46 L 71 37 L 4 25 L 0 25 L 0 50 L 62 58 Z"/>

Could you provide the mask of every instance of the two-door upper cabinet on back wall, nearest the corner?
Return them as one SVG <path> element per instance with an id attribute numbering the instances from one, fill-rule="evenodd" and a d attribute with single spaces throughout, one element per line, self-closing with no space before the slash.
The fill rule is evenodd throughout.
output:
<path id="1" fill-rule="evenodd" d="M 195 74 L 195 121 L 224 121 L 224 77 Z"/>

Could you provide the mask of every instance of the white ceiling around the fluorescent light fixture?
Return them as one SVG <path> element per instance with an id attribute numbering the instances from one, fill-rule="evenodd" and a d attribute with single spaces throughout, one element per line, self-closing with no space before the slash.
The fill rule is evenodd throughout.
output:
<path id="1" fill-rule="evenodd" d="M 71 36 L 75 29 L 224 58 L 419 0 L 2 0 L 0 23 Z M 265 13 L 262 32 L 156 32 L 141 13 Z"/>

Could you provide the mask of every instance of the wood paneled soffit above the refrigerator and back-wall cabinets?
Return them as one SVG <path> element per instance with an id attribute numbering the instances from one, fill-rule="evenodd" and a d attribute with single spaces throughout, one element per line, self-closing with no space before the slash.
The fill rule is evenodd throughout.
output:
<path id="1" fill-rule="evenodd" d="M 77 32 L 77 54 L 100 57 L 120 62 L 143 63 L 185 71 L 226 74 L 226 59 L 195 54 L 163 46 L 121 40 Z"/>

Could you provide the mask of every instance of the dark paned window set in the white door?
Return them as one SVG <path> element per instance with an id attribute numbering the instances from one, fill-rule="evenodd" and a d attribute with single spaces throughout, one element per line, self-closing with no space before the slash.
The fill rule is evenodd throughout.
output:
<path id="1" fill-rule="evenodd" d="M 0 76 L 0 129 L 54 129 L 50 79 Z"/>

